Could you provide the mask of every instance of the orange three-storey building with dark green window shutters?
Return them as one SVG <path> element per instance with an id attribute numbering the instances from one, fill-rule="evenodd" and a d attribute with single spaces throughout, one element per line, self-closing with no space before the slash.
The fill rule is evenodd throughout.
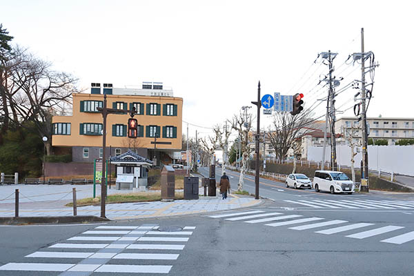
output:
<path id="1" fill-rule="evenodd" d="M 106 146 L 110 155 L 129 149 L 157 161 L 164 154 L 181 152 L 183 99 L 173 97 L 172 89 L 162 83 L 144 82 L 139 88 L 112 88 L 112 84 L 92 83 L 90 93 L 72 94 L 72 115 L 52 117 L 52 146 L 72 149 L 72 161 L 92 162 L 102 157 L 103 118 L 97 108 L 125 110 L 110 114 L 106 121 Z M 138 137 L 128 138 L 128 110 L 135 108 Z"/>

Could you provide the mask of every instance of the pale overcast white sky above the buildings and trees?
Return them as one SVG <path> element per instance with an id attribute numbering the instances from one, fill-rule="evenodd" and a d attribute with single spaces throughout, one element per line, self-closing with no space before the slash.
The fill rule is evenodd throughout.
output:
<path id="1" fill-rule="evenodd" d="M 410 1 L 0 0 L 0 7 L 13 42 L 77 77 L 79 89 L 142 81 L 172 88 L 184 99 L 183 132 L 188 123 L 190 137 L 196 130 L 213 135 L 211 128 L 242 106 L 256 114 L 250 102 L 259 81 L 262 95 L 303 93 L 304 108 L 323 119 L 326 103 L 319 99 L 328 90 L 317 83 L 328 66 L 317 55 L 338 53 L 333 75 L 344 79 L 337 91 L 361 79 L 360 65 L 345 63 L 361 52 L 361 28 L 365 52 L 379 63 L 368 117 L 414 117 L 402 101 L 413 90 Z M 337 96 L 337 118 L 353 115 L 356 92 Z M 271 121 L 262 115 L 260 127 Z"/>

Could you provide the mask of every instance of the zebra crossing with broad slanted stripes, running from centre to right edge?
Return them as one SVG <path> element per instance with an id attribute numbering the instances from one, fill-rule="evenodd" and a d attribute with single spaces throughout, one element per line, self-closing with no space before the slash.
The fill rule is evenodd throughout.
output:
<path id="1" fill-rule="evenodd" d="M 375 226 L 374 223 L 353 223 L 342 219 L 305 217 L 304 215 L 286 215 L 284 213 L 270 212 L 266 210 L 246 210 L 243 212 L 220 213 L 217 215 L 207 215 L 206 217 L 211 217 L 213 219 L 224 219 L 227 221 L 242 221 L 247 224 L 264 224 L 264 226 L 271 227 L 288 226 L 288 229 L 298 231 L 315 230 L 314 233 L 322 235 L 345 233 L 345 237 L 353 239 L 366 239 L 368 237 L 380 236 L 396 231 L 394 237 L 380 239 L 380 242 L 387 244 L 405 244 L 406 242 L 414 241 L 414 231 L 401 233 L 400 230 L 404 230 L 404 226 Z M 299 224 L 299 226 L 295 226 L 295 224 Z M 319 230 L 318 228 L 322 228 L 322 230 Z M 362 232 L 346 235 L 347 231 L 352 230 L 362 230 Z"/>

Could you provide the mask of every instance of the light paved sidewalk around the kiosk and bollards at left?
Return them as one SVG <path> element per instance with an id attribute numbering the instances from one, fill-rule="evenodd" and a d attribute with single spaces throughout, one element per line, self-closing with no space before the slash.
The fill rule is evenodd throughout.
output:
<path id="1" fill-rule="evenodd" d="M 97 186 L 97 190 L 98 187 Z M 92 196 L 91 185 L 72 186 L 50 186 L 50 185 L 17 185 L 0 187 L 0 217 L 14 216 L 14 195 L 9 199 L 4 199 L 12 194 L 15 189 L 21 193 L 19 204 L 20 217 L 50 217 L 50 216 L 72 216 L 73 208 L 64 206 L 71 202 L 72 188 L 77 188 L 77 199 Z M 202 188 L 199 189 L 202 193 Z M 8 193 L 10 192 L 10 193 Z M 108 190 L 108 194 L 130 193 L 130 190 Z M 151 193 L 151 192 L 148 192 Z M 30 197 L 29 197 L 30 195 Z M 97 191 L 97 195 L 99 195 Z M 63 199 L 62 199 L 63 197 Z M 107 204 L 106 217 L 108 219 L 141 219 L 148 217 L 169 217 L 174 215 L 190 215 L 198 213 L 208 213 L 220 210 L 232 210 L 236 208 L 246 208 L 256 206 L 263 202 L 262 199 L 256 200 L 253 197 L 238 196 L 230 194 L 227 199 L 217 197 L 204 197 L 193 200 L 175 200 L 171 202 L 152 201 L 135 202 L 124 204 Z M 83 206 L 77 208 L 77 215 L 87 216 L 100 215 L 100 206 Z"/>

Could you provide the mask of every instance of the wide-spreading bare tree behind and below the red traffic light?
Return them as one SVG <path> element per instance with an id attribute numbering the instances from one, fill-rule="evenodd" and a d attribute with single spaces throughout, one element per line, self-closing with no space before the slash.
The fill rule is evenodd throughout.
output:
<path id="1" fill-rule="evenodd" d="M 295 116 L 288 112 L 275 112 L 273 126 L 269 128 L 269 141 L 275 149 L 277 159 L 282 160 L 286 156 L 295 139 L 306 134 L 306 126 L 313 121 L 308 112 Z"/>

